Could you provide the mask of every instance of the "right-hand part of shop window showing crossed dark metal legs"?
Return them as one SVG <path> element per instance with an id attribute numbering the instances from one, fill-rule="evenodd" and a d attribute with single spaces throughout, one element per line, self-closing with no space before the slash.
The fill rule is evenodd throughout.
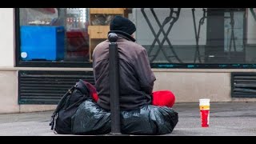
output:
<path id="1" fill-rule="evenodd" d="M 136 8 L 136 39 L 151 63 L 251 63 L 255 9 Z"/>

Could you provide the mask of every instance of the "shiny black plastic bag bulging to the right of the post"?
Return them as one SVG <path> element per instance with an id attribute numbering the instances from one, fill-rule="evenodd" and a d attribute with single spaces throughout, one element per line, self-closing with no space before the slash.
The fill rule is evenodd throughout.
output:
<path id="1" fill-rule="evenodd" d="M 142 106 L 121 112 L 122 134 L 170 134 L 178 123 L 178 113 L 166 106 Z"/>

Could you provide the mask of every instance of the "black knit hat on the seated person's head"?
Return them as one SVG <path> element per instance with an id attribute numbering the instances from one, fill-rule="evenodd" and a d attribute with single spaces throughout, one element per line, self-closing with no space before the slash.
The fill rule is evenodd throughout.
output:
<path id="1" fill-rule="evenodd" d="M 136 26 L 128 18 L 123 18 L 118 15 L 110 22 L 110 30 L 120 30 L 131 35 L 136 30 Z"/>

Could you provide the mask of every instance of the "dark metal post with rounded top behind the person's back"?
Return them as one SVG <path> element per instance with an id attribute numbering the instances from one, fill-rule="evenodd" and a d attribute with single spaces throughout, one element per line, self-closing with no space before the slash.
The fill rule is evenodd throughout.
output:
<path id="1" fill-rule="evenodd" d="M 118 65 L 118 35 L 110 33 L 110 113 L 111 132 L 110 134 L 121 134 L 120 130 L 120 106 L 119 106 L 119 65 Z"/>

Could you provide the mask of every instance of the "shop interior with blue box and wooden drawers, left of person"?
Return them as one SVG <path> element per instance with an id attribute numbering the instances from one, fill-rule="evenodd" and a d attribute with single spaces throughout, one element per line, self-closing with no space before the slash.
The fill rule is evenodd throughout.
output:
<path id="1" fill-rule="evenodd" d="M 22 61 L 92 62 L 94 47 L 107 38 L 125 8 L 19 9 Z"/>

